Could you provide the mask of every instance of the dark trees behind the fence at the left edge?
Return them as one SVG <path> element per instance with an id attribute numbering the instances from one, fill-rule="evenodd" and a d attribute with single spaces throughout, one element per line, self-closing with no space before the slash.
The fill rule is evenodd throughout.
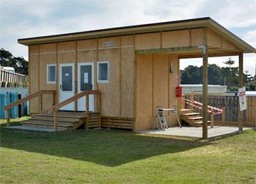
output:
<path id="1" fill-rule="evenodd" d="M 13 67 L 16 73 L 28 75 L 28 62 L 23 57 L 14 57 L 8 50 L 0 50 L 1 67 Z"/>

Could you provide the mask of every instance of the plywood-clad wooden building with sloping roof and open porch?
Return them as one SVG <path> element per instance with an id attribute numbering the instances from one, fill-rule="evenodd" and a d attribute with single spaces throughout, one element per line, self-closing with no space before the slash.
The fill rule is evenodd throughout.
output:
<path id="1" fill-rule="evenodd" d="M 129 127 L 129 122 L 134 131 L 152 128 L 156 106 L 178 105 L 179 59 L 203 57 L 205 137 L 208 57 L 239 55 L 241 74 L 242 54 L 256 52 L 211 18 L 22 38 L 18 43 L 28 46 L 30 94 L 56 91 L 60 103 L 81 91 L 98 90 L 102 125 Z M 50 108 L 52 99 L 34 98 L 30 112 Z M 97 100 L 89 99 L 93 111 Z M 85 111 L 85 98 L 60 110 Z M 177 125 L 175 117 L 172 125 Z"/>

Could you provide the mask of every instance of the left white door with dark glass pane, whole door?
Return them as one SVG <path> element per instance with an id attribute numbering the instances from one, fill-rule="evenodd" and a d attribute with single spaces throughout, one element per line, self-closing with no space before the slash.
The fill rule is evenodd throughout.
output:
<path id="1" fill-rule="evenodd" d="M 75 86 L 74 86 L 74 64 L 60 64 L 60 102 L 74 96 Z M 75 110 L 74 103 L 69 103 L 65 105 L 60 110 Z"/>

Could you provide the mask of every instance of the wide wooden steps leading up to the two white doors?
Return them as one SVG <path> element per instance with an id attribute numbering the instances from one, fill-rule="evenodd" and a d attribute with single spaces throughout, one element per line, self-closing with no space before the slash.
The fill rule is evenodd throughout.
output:
<path id="1" fill-rule="evenodd" d="M 87 122 L 87 118 L 88 123 Z M 58 112 L 58 130 L 75 130 L 78 127 L 90 129 L 99 127 L 99 113 L 89 113 L 89 117 L 85 113 L 76 112 Z M 53 129 L 54 115 L 48 113 L 38 113 L 33 115 L 28 121 L 21 122 L 22 126 L 28 127 L 44 127 Z"/>

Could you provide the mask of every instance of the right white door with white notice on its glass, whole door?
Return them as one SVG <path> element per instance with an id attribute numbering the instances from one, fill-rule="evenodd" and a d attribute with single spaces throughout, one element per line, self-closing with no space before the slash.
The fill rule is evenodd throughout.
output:
<path id="1" fill-rule="evenodd" d="M 78 93 L 94 89 L 93 62 L 78 63 Z M 85 111 L 85 96 L 78 100 L 78 110 Z M 89 110 L 94 111 L 94 96 L 89 95 Z"/>

